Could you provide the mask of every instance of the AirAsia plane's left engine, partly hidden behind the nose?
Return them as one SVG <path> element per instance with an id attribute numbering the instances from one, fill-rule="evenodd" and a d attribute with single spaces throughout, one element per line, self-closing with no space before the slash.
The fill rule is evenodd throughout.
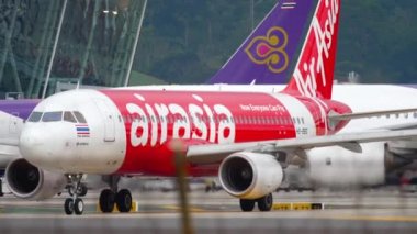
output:
<path id="1" fill-rule="evenodd" d="M 43 200 L 61 191 L 67 185 L 67 178 L 63 174 L 42 170 L 20 158 L 7 167 L 5 182 L 18 198 Z"/>

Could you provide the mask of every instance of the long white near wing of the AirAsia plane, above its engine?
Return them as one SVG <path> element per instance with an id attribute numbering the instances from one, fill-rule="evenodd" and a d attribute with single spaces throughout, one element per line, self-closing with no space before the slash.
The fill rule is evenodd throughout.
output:
<path id="1" fill-rule="evenodd" d="M 326 136 L 313 136 L 304 138 L 289 138 L 274 141 L 259 141 L 233 144 L 205 144 L 190 145 L 187 149 L 187 158 L 193 164 L 218 163 L 223 158 L 235 152 L 258 152 L 258 153 L 293 153 L 298 156 L 303 152 L 313 147 L 341 146 L 352 152 L 361 152 L 359 143 L 382 142 L 382 141 L 417 140 L 417 130 L 401 131 L 375 131 L 352 134 L 337 134 Z"/>

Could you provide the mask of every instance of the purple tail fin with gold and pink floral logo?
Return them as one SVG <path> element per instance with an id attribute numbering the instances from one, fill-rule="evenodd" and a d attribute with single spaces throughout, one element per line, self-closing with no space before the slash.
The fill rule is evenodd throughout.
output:
<path id="1" fill-rule="evenodd" d="M 207 83 L 286 83 L 313 0 L 282 0 Z"/>

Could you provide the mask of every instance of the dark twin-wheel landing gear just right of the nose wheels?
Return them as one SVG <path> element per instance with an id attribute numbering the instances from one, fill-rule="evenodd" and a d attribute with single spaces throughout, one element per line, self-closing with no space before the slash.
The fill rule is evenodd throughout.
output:
<path id="1" fill-rule="evenodd" d="M 132 208 L 132 193 L 127 189 L 117 191 L 117 182 L 120 177 L 108 176 L 103 180 L 109 183 L 110 189 L 104 189 L 100 193 L 100 210 L 103 213 L 110 213 L 114 209 L 114 204 L 122 213 L 127 213 Z"/>

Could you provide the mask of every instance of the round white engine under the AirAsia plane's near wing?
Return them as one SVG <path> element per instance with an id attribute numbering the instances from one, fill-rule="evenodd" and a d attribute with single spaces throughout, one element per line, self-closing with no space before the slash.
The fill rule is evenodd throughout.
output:
<path id="1" fill-rule="evenodd" d="M 258 199 L 280 187 L 283 171 L 271 155 L 239 152 L 226 157 L 218 178 L 227 193 L 241 199 Z"/>

